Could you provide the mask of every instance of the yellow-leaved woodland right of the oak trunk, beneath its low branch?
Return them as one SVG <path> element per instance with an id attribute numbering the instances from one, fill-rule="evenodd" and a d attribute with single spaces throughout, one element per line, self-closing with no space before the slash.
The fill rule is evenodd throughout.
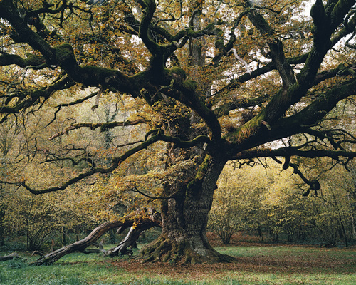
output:
<path id="1" fill-rule="evenodd" d="M 355 241 L 355 198 L 347 189 L 353 187 L 352 172 L 330 162 L 299 162 L 306 178 L 318 177 L 318 195 L 293 170 L 281 172 L 273 160 L 236 170 L 226 165 L 214 193 L 209 229 L 224 243 L 242 231 L 266 241 L 347 247 Z"/>

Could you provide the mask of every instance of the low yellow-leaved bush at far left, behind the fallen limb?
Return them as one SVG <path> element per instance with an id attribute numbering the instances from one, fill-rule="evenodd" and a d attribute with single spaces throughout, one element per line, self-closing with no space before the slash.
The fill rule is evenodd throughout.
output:
<path id="1" fill-rule="evenodd" d="M 63 193 L 64 194 L 64 193 Z M 75 235 L 88 234 L 97 224 L 93 214 L 78 209 L 77 197 L 68 193 L 61 195 L 32 195 L 16 191 L 8 202 L 4 219 L 4 229 L 8 237 L 17 243 L 24 237 L 26 249 L 44 250 L 50 248 L 53 240 L 56 247 L 66 242 L 74 242 Z M 9 239 L 8 239 L 9 240 Z"/>

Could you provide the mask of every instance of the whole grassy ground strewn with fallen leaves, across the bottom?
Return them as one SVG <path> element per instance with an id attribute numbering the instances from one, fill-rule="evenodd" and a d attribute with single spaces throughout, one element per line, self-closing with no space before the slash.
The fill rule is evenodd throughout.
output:
<path id="1" fill-rule="evenodd" d="M 218 247 L 231 264 L 141 264 L 127 258 L 70 254 L 51 266 L 0 262 L 4 285 L 356 284 L 356 249 Z M 9 254 L 9 253 L 1 253 Z M 21 254 L 21 253 L 19 253 Z M 31 261 L 28 257 L 27 261 Z"/>

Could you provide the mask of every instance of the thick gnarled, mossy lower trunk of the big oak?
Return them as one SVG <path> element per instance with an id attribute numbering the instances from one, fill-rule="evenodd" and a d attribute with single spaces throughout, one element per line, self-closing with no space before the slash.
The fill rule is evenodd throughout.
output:
<path id="1" fill-rule="evenodd" d="M 185 261 L 192 264 L 233 259 L 214 250 L 206 239 L 206 224 L 216 181 L 225 162 L 206 155 L 194 178 L 166 185 L 162 202 L 162 235 L 142 248 L 145 261 Z"/>

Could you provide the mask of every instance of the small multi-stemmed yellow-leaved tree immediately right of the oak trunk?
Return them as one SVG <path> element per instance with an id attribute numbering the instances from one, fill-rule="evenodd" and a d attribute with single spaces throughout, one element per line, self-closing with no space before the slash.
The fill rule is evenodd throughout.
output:
<path id="1" fill-rule="evenodd" d="M 267 212 L 262 203 L 271 187 L 270 179 L 261 164 L 239 169 L 226 165 L 209 213 L 209 229 L 216 232 L 224 244 L 229 244 L 239 230 L 255 232 L 263 239 Z"/>

